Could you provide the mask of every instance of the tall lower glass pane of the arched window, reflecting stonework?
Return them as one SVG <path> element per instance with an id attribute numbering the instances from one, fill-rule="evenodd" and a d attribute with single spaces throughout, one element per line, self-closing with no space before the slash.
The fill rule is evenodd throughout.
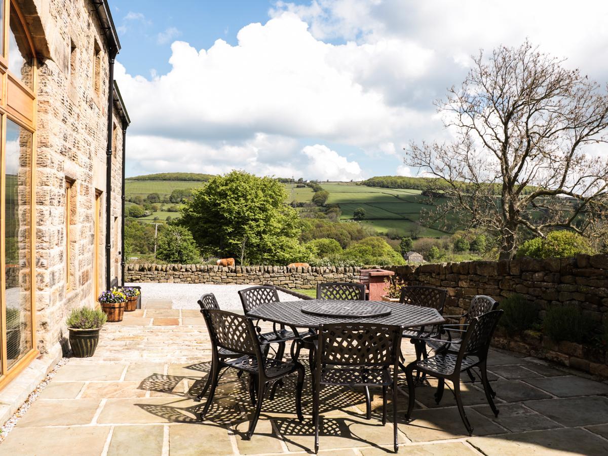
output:
<path id="1" fill-rule="evenodd" d="M 32 349 L 30 197 L 32 133 L 7 119 L 5 147 L 7 366 Z"/>

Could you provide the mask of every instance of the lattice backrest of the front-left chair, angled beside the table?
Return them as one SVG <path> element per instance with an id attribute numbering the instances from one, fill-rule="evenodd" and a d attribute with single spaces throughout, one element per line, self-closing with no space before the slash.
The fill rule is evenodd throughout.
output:
<path id="1" fill-rule="evenodd" d="M 260 345 L 251 319 L 216 309 L 204 309 L 202 314 L 213 346 L 261 357 Z"/>

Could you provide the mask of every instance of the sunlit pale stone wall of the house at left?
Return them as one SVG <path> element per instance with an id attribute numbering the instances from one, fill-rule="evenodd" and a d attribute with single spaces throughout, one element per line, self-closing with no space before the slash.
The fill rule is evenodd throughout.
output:
<path id="1" fill-rule="evenodd" d="M 95 305 L 95 194 L 102 192 L 98 283 L 105 283 L 108 49 L 91 0 L 24 2 L 41 51 L 36 130 L 36 323 L 38 350 L 59 350 L 69 311 Z M 35 20 L 36 19 L 36 20 Z M 38 20 L 40 19 L 40 20 Z M 37 49 L 38 49 L 37 48 Z M 43 49 L 44 50 L 44 49 Z M 120 125 L 120 122 L 118 123 Z M 122 131 L 112 157 L 112 230 L 120 219 Z M 66 179 L 72 205 L 66 208 Z M 71 224 L 66 229 L 66 211 Z M 66 233 L 69 231 L 69 239 Z M 66 244 L 71 255 L 66 267 Z M 118 238 L 120 242 L 120 238 Z M 114 244 L 114 233 L 112 233 Z M 119 250 L 119 249 L 118 249 Z M 112 250 L 117 255 L 117 249 Z M 114 263 L 115 258 L 112 258 Z"/>

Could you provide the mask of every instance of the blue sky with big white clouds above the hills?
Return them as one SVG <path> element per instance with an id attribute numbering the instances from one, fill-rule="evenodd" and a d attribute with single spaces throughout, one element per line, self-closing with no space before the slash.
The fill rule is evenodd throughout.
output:
<path id="1" fill-rule="evenodd" d="M 433 103 L 479 49 L 529 38 L 607 80 L 608 2 L 552 5 L 110 0 L 122 43 L 116 78 L 133 121 L 127 175 L 416 175 L 403 148 L 451 139 Z"/>

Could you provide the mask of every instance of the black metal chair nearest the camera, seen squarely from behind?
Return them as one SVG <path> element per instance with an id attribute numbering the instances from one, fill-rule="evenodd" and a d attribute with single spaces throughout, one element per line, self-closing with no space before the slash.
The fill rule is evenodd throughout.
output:
<path id="1" fill-rule="evenodd" d="M 382 425 L 386 424 L 387 389 L 393 393 L 393 432 L 397 443 L 397 375 L 401 328 L 375 323 L 322 325 L 314 363 L 314 451 L 319 451 L 319 401 L 322 385 L 382 387 Z"/>

